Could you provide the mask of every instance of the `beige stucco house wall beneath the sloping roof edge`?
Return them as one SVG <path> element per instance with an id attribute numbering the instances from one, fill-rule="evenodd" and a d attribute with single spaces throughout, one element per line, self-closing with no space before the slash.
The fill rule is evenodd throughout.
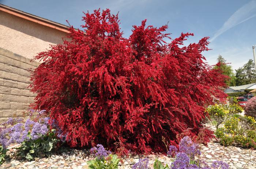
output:
<path id="1" fill-rule="evenodd" d="M 65 32 L 0 11 L 0 47 L 33 58 L 50 44 L 62 43 Z"/>

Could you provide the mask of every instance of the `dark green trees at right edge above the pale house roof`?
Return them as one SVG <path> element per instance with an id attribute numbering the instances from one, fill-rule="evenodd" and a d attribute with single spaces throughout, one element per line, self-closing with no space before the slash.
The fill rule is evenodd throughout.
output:
<path id="1" fill-rule="evenodd" d="M 236 70 L 236 86 L 256 83 L 255 65 L 252 59 Z"/>

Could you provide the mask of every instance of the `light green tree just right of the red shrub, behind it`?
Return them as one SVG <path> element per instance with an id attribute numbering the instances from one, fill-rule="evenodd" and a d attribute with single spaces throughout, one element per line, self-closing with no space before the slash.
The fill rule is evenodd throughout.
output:
<path id="1" fill-rule="evenodd" d="M 217 58 L 218 63 L 214 66 L 214 69 L 220 69 L 223 75 L 229 76 L 229 79 L 225 80 L 227 86 L 236 85 L 236 76 L 233 72 L 233 69 L 229 63 L 226 63 L 226 60 L 219 55 Z"/>

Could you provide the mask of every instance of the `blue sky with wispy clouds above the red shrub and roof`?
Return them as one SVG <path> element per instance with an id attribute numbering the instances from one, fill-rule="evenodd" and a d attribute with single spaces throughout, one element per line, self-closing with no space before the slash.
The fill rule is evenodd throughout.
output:
<path id="1" fill-rule="evenodd" d="M 147 19 L 148 25 L 159 27 L 169 22 L 168 33 L 177 38 L 181 32 L 195 36 L 185 44 L 210 36 L 211 51 L 204 52 L 207 62 L 215 64 L 221 54 L 236 69 L 253 59 L 256 44 L 256 0 L 0 0 L 1 4 L 58 23 L 68 20 L 79 28 L 84 12 L 109 8 L 119 11 L 124 36 L 132 25 Z"/>

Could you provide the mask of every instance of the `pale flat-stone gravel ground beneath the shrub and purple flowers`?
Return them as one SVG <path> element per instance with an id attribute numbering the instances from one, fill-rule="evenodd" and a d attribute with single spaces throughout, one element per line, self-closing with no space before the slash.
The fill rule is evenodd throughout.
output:
<path id="1" fill-rule="evenodd" d="M 226 150 L 225 150 L 226 149 Z M 0 169 L 80 169 L 88 168 L 87 161 L 93 159 L 84 150 L 70 149 L 62 154 L 53 155 L 50 158 L 41 158 L 38 161 L 25 161 L 25 160 L 15 160 L 13 156 L 15 149 L 11 149 L 10 156 L 11 159 L 6 161 L 0 166 Z M 251 153 L 250 153 L 251 152 Z M 251 154 L 251 156 L 250 156 Z M 156 158 L 164 164 L 172 163 L 172 158 L 164 156 L 162 154 L 150 154 L 148 156 L 140 156 L 140 158 L 149 158 L 149 168 L 153 169 L 153 163 Z M 227 162 L 230 169 L 256 169 L 256 150 L 242 149 L 234 146 L 225 148 L 219 143 L 210 142 L 208 146 L 202 147 L 202 155 L 200 158 L 206 159 L 206 161 L 211 164 L 214 160 L 222 160 Z M 120 169 L 131 169 L 135 162 L 139 161 L 139 156 L 127 157 L 120 162 Z"/>

